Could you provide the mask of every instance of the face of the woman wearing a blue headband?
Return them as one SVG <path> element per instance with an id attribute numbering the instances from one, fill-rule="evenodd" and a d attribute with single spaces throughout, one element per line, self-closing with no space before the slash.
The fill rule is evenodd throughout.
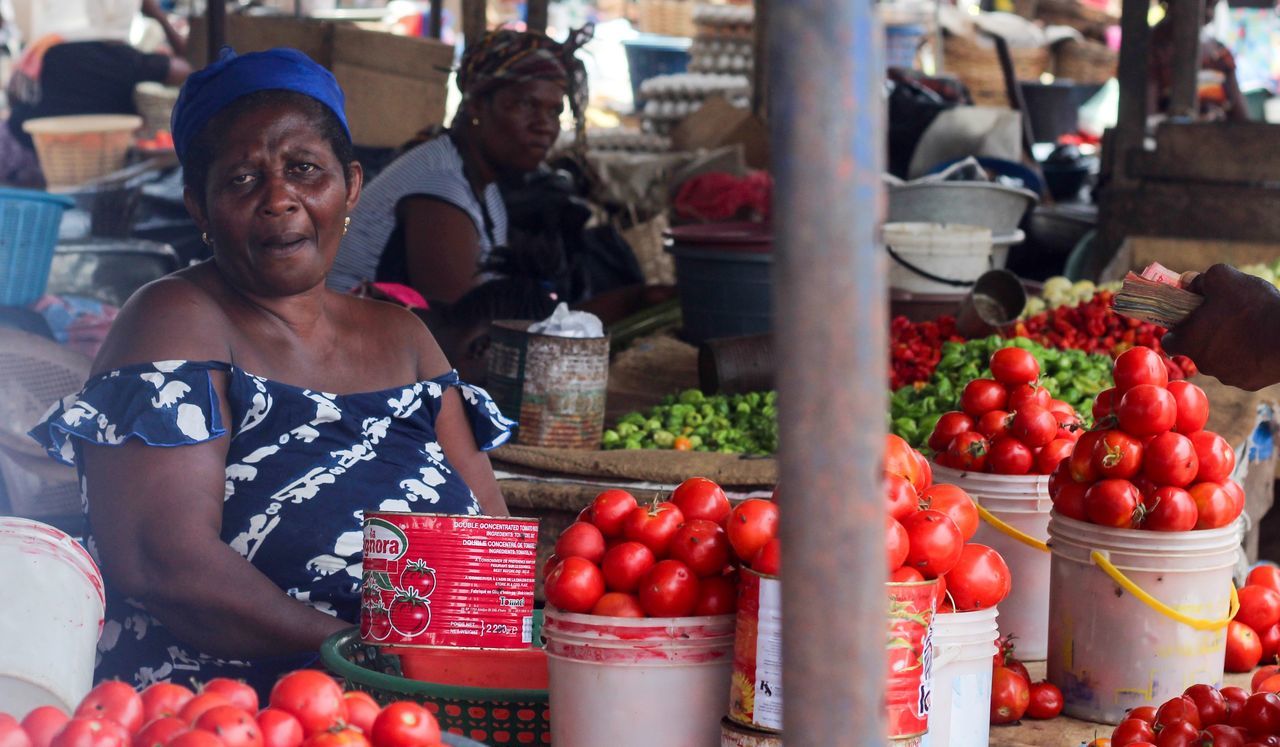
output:
<path id="1" fill-rule="evenodd" d="M 261 297 L 321 287 L 360 198 L 360 164 L 348 179 L 312 118 L 289 105 L 250 109 L 223 133 L 205 205 L 186 194 L 219 269 Z"/>

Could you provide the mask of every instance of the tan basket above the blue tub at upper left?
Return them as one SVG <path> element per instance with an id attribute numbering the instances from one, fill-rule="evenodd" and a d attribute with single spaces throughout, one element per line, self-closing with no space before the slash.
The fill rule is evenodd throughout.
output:
<path id="1" fill-rule="evenodd" d="M 35 141 L 45 183 L 54 191 L 123 169 L 140 127 L 142 118 L 132 114 L 81 114 L 29 119 L 22 129 Z"/>

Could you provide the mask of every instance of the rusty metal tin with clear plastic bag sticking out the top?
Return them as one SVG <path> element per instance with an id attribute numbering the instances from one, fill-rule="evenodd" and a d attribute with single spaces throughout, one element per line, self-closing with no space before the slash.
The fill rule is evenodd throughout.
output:
<path id="1" fill-rule="evenodd" d="M 488 389 L 520 421 L 530 446 L 598 449 L 604 434 L 609 338 L 557 338 L 527 321 L 495 321 L 489 333 Z"/>

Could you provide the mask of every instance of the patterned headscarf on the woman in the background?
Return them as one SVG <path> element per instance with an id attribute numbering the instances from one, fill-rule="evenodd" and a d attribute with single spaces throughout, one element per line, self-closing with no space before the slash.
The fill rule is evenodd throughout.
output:
<path id="1" fill-rule="evenodd" d="M 458 90 L 463 98 L 479 97 L 511 84 L 552 81 L 564 87 L 579 142 L 586 133 L 586 67 L 575 56 L 591 41 L 595 27 L 572 31 L 562 43 L 535 31 L 490 31 L 462 54 Z"/>

